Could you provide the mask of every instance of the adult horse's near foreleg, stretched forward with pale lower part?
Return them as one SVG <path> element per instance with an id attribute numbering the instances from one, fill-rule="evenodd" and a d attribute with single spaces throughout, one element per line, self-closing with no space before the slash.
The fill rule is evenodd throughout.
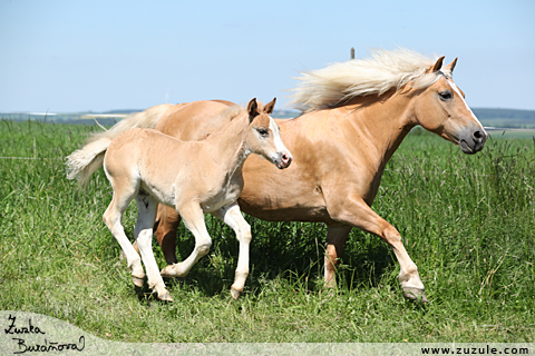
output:
<path id="1" fill-rule="evenodd" d="M 352 226 L 374 234 L 383 239 L 390 247 L 399 263 L 399 281 L 403 288 L 405 297 L 409 299 L 421 298 L 427 301 L 424 291 L 424 284 L 418 275 L 416 264 L 410 259 L 405 249 L 399 231 L 387 220 L 374 212 L 361 198 L 347 197 L 343 201 L 338 201 L 328 207 L 331 218 L 340 222 L 351 224 Z"/>

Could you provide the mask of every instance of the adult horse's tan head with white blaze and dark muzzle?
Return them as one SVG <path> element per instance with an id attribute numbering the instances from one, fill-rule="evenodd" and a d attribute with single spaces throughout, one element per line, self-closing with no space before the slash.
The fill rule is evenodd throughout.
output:
<path id="1" fill-rule="evenodd" d="M 487 132 L 465 101 L 465 93 L 451 79 L 457 59 L 442 67 L 444 57 L 429 69 L 438 79 L 429 86 L 418 100 L 418 123 L 425 129 L 458 144 L 463 152 L 473 155 L 483 149 Z"/>

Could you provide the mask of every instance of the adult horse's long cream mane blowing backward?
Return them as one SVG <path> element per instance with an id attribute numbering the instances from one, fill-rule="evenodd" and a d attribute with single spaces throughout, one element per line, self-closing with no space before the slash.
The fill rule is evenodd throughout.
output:
<path id="1" fill-rule="evenodd" d="M 429 73 L 436 59 L 398 48 L 370 51 L 371 58 L 332 63 L 323 69 L 301 72 L 301 82 L 290 91 L 290 106 L 303 112 L 332 108 L 346 100 L 412 87 L 427 88 L 438 80 Z"/>

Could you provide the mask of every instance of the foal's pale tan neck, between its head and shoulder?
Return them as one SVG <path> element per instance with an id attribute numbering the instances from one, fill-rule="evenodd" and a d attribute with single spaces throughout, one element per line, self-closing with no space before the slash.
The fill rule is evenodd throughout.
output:
<path id="1" fill-rule="evenodd" d="M 245 158 L 251 154 L 246 145 L 247 123 L 247 116 L 242 115 L 206 139 L 206 144 L 212 146 L 213 159 L 231 178 L 240 175 Z"/>

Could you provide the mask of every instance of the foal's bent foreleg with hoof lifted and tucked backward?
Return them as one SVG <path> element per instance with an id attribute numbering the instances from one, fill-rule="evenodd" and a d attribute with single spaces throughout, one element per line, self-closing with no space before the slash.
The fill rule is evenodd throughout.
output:
<path id="1" fill-rule="evenodd" d="M 195 248 L 184 261 L 167 266 L 165 269 L 168 271 L 172 268 L 173 276 L 185 277 L 192 269 L 193 265 L 195 265 L 201 257 L 208 254 L 210 247 L 212 246 L 212 239 L 210 238 L 206 225 L 204 224 L 203 209 L 201 209 L 198 204 L 194 202 L 183 206 L 179 208 L 179 212 L 182 220 L 189 231 L 192 231 L 193 236 L 195 236 Z"/>

